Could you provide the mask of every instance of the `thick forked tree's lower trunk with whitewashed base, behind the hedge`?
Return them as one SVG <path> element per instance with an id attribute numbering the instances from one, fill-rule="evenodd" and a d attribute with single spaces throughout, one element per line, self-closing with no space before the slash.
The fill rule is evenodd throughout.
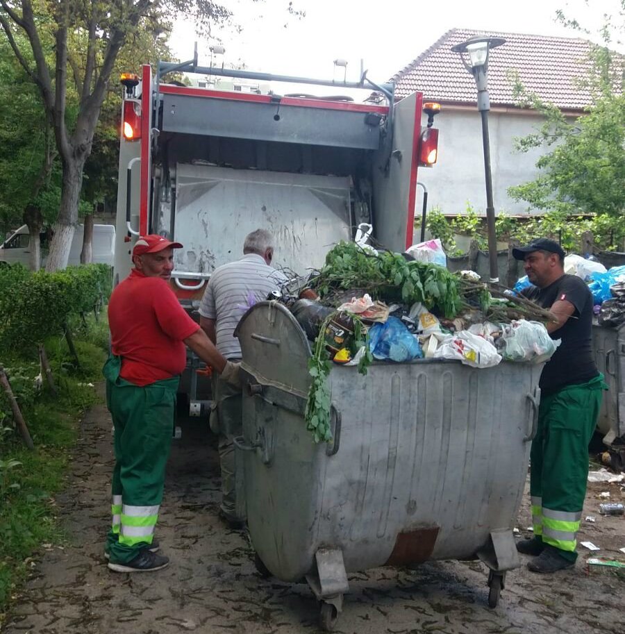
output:
<path id="1" fill-rule="evenodd" d="M 47 271 L 67 267 L 69 249 L 72 248 L 74 231 L 78 222 L 78 201 L 83 184 L 83 167 L 86 156 L 71 156 L 63 160 L 63 188 L 58 220 L 54 223 L 52 243 L 48 254 Z"/>

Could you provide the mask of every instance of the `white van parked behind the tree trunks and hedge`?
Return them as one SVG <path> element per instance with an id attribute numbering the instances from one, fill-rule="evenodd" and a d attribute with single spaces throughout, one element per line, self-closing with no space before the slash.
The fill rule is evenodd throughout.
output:
<path id="1" fill-rule="evenodd" d="M 72 248 L 69 249 L 68 265 L 81 263 L 81 251 L 83 250 L 84 226 L 79 224 L 74 231 Z M 30 249 L 28 244 L 31 236 L 28 227 L 24 224 L 15 233 L 12 233 L 0 244 L 0 262 L 14 264 L 19 262 L 28 267 L 30 262 Z M 41 265 L 45 266 L 48 255 L 47 233 L 41 234 Z M 93 262 L 113 266 L 115 260 L 115 226 L 112 224 L 94 224 L 92 242 Z"/>

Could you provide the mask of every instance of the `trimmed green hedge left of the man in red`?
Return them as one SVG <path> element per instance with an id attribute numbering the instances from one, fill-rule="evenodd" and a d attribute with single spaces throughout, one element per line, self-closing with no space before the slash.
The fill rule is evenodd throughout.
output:
<path id="1" fill-rule="evenodd" d="M 62 334 L 72 315 L 97 308 L 110 292 L 110 267 L 94 264 L 63 271 L 24 275 L 23 267 L 3 267 L 0 342 L 24 349 L 50 335 Z"/>

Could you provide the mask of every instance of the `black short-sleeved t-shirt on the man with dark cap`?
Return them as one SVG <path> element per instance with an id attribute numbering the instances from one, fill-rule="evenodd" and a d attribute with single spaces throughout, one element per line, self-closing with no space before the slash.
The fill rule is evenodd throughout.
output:
<path id="1" fill-rule="evenodd" d="M 592 293 L 581 278 L 565 274 L 547 287 L 531 286 L 522 294 L 542 308 L 551 308 L 558 300 L 569 301 L 575 307 L 564 326 L 550 335 L 562 343 L 542 370 L 542 392 L 551 394 L 565 385 L 587 383 L 597 376 L 592 351 Z"/>

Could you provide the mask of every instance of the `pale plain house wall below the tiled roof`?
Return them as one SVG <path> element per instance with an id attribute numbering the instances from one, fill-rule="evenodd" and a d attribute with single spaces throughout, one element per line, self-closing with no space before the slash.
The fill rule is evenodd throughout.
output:
<path id="1" fill-rule="evenodd" d="M 537 131 L 542 117 L 512 113 L 490 112 L 490 158 L 495 212 L 528 213 L 523 201 L 508 197 L 508 187 L 531 181 L 537 175 L 536 160 L 544 148 L 519 153 L 514 149 L 514 138 Z M 426 125 L 424 116 L 422 125 Z M 467 200 L 476 212 L 485 214 L 486 187 L 482 144 L 481 118 L 474 112 L 447 110 L 444 106 L 435 118 L 439 128 L 438 161 L 432 168 L 419 168 L 418 180 L 428 188 L 428 209 L 437 206 L 442 212 L 456 214 L 465 211 Z M 417 187 L 417 215 L 423 205 L 422 187 Z"/>

